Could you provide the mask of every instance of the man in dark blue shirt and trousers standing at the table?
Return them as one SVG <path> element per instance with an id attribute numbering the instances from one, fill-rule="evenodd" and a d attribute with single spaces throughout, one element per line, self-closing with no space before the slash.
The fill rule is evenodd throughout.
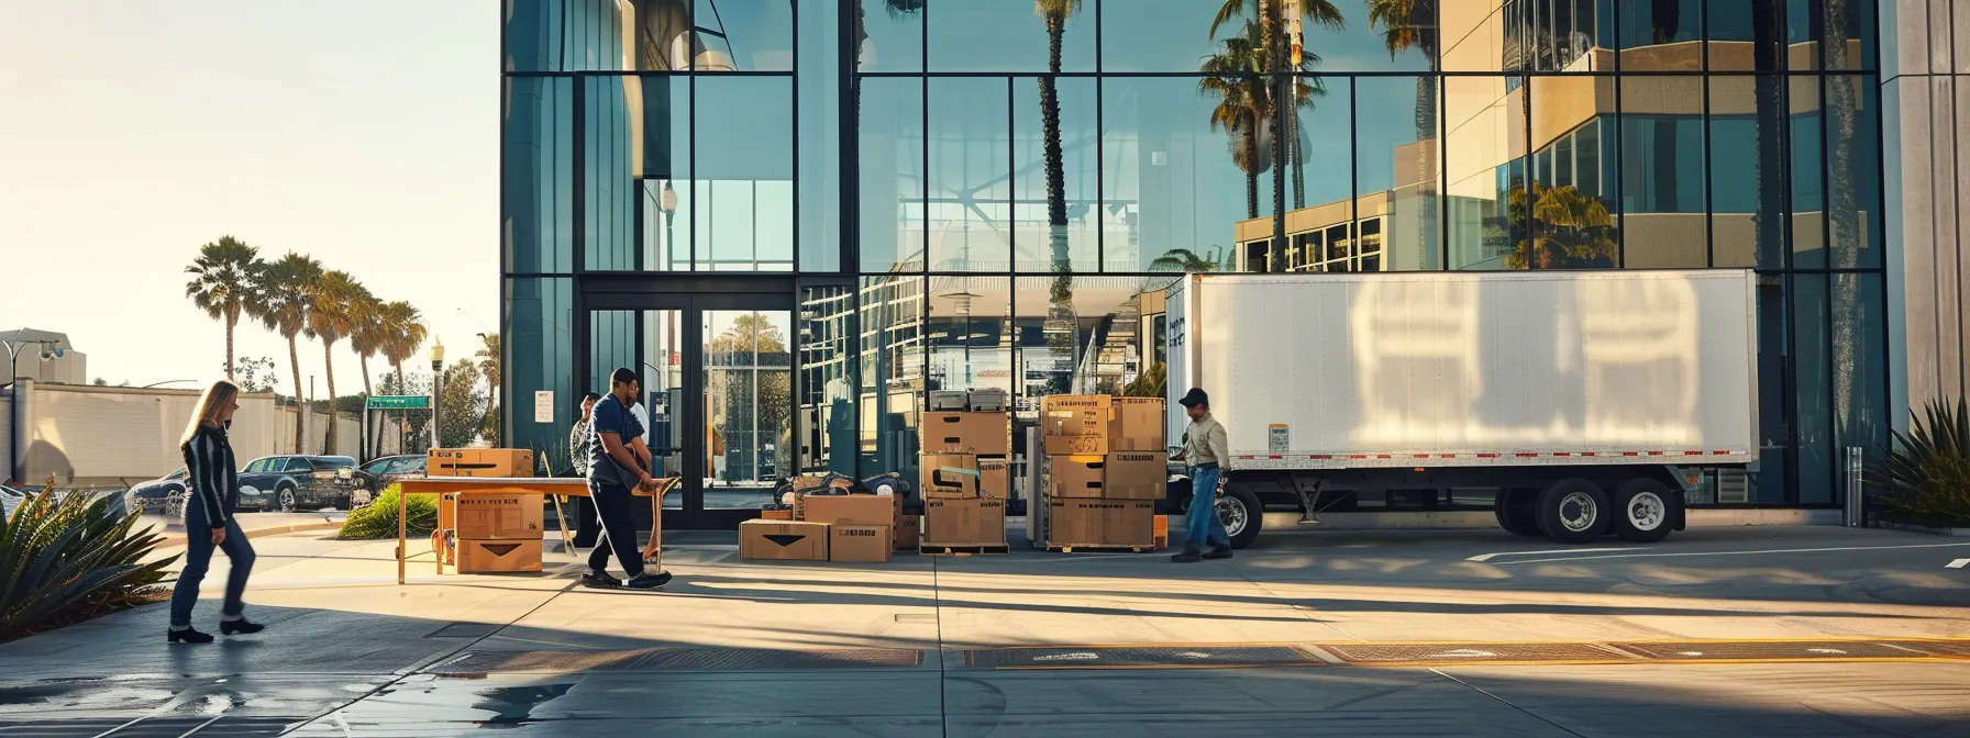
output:
<path id="1" fill-rule="evenodd" d="M 589 419 L 589 498 L 603 522 L 603 535 L 589 553 L 589 573 L 581 577 L 589 586 L 658 588 L 670 583 L 670 573 L 642 571 L 642 551 L 636 549 L 630 488 L 654 490 L 658 484 L 650 476 L 648 455 L 638 455 L 632 447 L 644 433 L 642 423 L 628 411 L 640 392 L 642 382 L 636 372 L 615 370 L 609 376 L 609 394 L 595 403 Z M 609 575 L 609 551 L 615 551 L 623 565 L 626 583 Z"/>

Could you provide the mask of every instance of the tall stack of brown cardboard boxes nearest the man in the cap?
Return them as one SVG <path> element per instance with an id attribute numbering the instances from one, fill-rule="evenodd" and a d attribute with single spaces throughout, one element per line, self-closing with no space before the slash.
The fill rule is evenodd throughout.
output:
<path id="1" fill-rule="evenodd" d="M 1150 547 L 1164 496 L 1160 398 L 1048 396 L 1040 403 L 1044 504 L 1028 527 L 1048 547 Z"/>

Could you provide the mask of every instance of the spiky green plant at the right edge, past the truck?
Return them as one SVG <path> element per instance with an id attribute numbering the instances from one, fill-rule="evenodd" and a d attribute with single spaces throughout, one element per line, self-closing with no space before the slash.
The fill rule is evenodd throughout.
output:
<path id="1" fill-rule="evenodd" d="M 1970 407 L 1931 401 L 1923 415 L 1889 439 L 1868 480 L 1895 522 L 1970 527 Z"/>

